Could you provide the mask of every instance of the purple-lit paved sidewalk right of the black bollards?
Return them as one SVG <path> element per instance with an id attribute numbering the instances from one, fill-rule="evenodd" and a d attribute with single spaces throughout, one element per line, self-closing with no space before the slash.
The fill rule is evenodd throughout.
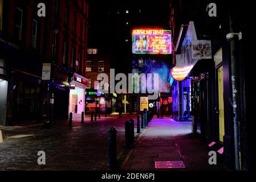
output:
<path id="1" fill-rule="evenodd" d="M 155 169 L 155 162 L 182 161 L 185 168 L 178 170 L 224 170 L 209 165 L 208 159 L 207 147 L 192 137 L 191 122 L 155 118 L 136 140 L 120 169 L 173 170 Z"/>

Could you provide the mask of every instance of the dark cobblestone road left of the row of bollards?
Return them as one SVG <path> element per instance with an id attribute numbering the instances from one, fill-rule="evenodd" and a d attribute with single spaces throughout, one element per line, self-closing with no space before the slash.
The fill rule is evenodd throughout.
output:
<path id="1" fill-rule="evenodd" d="M 3 143 L 0 143 L 1 170 L 107 170 L 108 129 L 117 129 L 117 154 L 124 151 L 124 122 L 136 115 L 102 117 L 91 122 L 89 118 L 81 124 L 74 119 L 72 127 L 68 121 L 56 121 L 53 129 L 42 129 L 42 125 L 30 127 L 0 127 Z M 136 131 L 136 128 L 135 128 Z M 17 135 L 22 138 L 9 138 Z M 17 136 L 18 137 L 18 136 Z M 37 163 L 38 151 L 46 153 L 46 165 Z"/>

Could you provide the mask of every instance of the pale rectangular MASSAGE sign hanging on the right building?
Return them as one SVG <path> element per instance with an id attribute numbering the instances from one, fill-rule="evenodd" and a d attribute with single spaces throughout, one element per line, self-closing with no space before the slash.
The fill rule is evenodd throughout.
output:
<path id="1" fill-rule="evenodd" d="M 192 40 L 192 59 L 212 59 L 210 40 Z"/>

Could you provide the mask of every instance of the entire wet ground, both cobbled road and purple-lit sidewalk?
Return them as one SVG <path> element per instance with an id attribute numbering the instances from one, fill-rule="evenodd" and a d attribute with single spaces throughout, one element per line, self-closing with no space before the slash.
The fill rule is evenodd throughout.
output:
<path id="1" fill-rule="evenodd" d="M 124 123 L 136 115 L 89 117 L 81 123 L 73 119 L 55 121 L 52 129 L 40 123 L 29 126 L 0 127 L 0 170 L 107 170 L 108 129 L 117 129 L 117 161 L 121 170 L 155 170 L 156 161 L 182 160 L 182 170 L 219 170 L 220 165 L 208 164 L 206 146 L 191 136 L 191 122 L 154 118 L 146 129 L 136 134 L 135 147 L 124 148 Z M 135 122 L 136 123 L 136 122 Z M 31 125 L 32 124 L 32 125 Z M 37 163 L 38 151 L 46 153 L 46 165 Z M 162 170 L 162 169 L 161 169 Z M 166 170 L 166 169 L 164 169 Z"/>

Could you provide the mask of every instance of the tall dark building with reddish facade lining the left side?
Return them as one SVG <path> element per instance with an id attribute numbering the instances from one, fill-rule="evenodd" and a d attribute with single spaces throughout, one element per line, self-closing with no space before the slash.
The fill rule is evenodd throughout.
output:
<path id="1" fill-rule="evenodd" d="M 38 3 L 46 5 L 45 17 L 37 14 Z M 8 82 L 2 123 L 52 113 L 68 118 L 70 83 L 86 69 L 88 1 L 2 0 L 0 5 L 0 74 Z M 51 65 L 51 80 L 42 78 L 43 63 Z"/>

